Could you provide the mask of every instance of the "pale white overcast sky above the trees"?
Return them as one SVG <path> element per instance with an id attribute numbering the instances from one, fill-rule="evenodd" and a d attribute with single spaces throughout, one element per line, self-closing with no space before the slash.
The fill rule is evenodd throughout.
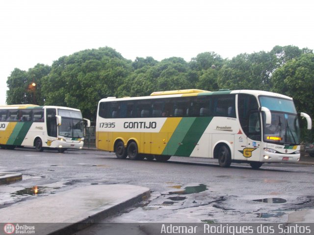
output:
<path id="1" fill-rule="evenodd" d="M 0 105 L 14 68 L 112 47 L 160 61 L 223 58 L 294 45 L 314 49 L 311 0 L 1 0 Z"/>

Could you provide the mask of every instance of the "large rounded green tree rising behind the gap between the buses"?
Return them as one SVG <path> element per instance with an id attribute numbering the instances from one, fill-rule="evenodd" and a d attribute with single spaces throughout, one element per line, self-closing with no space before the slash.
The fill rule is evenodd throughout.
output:
<path id="1" fill-rule="evenodd" d="M 45 103 L 78 108 L 84 117 L 94 120 L 98 101 L 115 96 L 131 71 L 131 61 L 110 47 L 63 56 L 44 79 Z"/>

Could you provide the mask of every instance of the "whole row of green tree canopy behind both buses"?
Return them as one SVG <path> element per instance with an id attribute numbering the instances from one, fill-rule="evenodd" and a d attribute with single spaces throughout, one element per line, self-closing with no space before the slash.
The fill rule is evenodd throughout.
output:
<path id="1" fill-rule="evenodd" d="M 7 85 L 7 104 L 68 106 L 91 120 L 96 118 L 101 98 L 191 88 L 286 94 L 294 98 L 299 112 L 314 117 L 313 50 L 295 46 L 275 46 L 269 52 L 243 53 L 232 59 L 210 51 L 189 62 L 179 57 L 131 61 L 113 48 L 101 47 L 62 56 L 52 66 L 37 64 L 28 71 L 15 68 Z"/>

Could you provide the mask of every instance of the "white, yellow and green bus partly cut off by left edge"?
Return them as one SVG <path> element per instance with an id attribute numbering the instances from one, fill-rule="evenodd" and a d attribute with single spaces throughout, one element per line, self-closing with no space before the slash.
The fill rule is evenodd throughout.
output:
<path id="1" fill-rule="evenodd" d="M 87 126 L 90 121 L 86 119 Z M 0 106 L 0 147 L 33 146 L 37 151 L 81 149 L 84 123 L 80 110 L 59 106 Z"/>

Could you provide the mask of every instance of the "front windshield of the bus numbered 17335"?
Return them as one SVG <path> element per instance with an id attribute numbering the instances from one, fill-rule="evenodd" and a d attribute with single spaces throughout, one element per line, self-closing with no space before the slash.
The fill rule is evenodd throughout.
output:
<path id="1" fill-rule="evenodd" d="M 298 145 L 300 128 L 293 101 L 277 97 L 260 96 L 261 106 L 271 111 L 271 124 L 263 117 L 263 139 L 265 142 Z"/>

